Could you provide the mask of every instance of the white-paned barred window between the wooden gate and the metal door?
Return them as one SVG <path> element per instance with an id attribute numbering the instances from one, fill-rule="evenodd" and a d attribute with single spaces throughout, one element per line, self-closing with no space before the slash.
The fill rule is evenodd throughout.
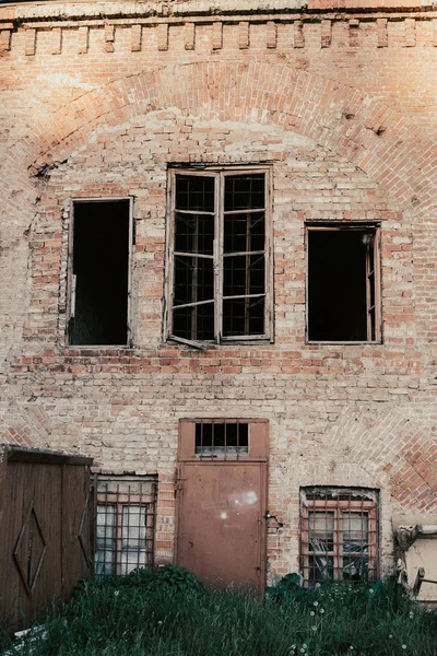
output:
<path id="1" fill-rule="evenodd" d="M 151 477 L 98 477 L 96 490 L 96 576 L 152 569 L 156 481 Z"/>

